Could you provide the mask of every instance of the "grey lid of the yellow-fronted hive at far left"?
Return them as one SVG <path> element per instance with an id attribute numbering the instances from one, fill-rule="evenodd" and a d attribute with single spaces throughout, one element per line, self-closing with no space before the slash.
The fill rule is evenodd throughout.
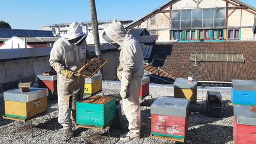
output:
<path id="1" fill-rule="evenodd" d="M 30 88 L 29 92 L 21 92 L 20 89 L 13 89 L 4 92 L 5 101 L 18 101 L 21 103 L 28 103 L 39 98 L 47 97 L 47 88 Z"/>

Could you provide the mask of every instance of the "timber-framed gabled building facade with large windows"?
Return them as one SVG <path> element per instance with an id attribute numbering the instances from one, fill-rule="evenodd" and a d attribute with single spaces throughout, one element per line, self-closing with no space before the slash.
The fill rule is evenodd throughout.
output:
<path id="1" fill-rule="evenodd" d="M 158 41 L 255 40 L 256 8 L 237 0 L 172 0 L 126 26 Z"/>

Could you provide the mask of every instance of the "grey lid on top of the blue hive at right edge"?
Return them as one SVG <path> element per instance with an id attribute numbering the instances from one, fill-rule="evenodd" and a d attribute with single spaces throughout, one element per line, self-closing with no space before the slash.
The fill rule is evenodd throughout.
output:
<path id="1" fill-rule="evenodd" d="M 238 91 L 256 91 L 256 81 L 233 79 L 232 88 Z"/>

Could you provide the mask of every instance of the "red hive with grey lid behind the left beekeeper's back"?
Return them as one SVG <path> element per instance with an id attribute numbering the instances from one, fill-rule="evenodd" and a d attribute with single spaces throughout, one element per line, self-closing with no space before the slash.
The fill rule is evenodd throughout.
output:
<path id="1" fill-rule="evenodd" d="M 57 92 L 57 75 L 37 75 L 39 88 L 48 88 L 51 92 Z"/>

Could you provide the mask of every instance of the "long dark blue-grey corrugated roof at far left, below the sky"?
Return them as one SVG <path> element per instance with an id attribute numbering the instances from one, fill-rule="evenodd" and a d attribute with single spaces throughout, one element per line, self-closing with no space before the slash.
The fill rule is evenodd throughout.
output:
<path id="1" fill-rule="evenodd" d="M 1 38 L 17 37 L 54 37 L 52 31 L 46 30 L 19 30 L 0 28 Z"/>

